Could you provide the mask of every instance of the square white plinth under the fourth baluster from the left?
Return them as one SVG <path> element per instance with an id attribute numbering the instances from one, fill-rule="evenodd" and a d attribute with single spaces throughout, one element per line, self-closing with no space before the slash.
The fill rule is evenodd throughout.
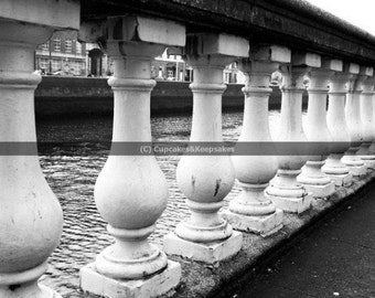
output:
<path id="1" fill-rule="evenodd" d="M 274 213 L 267 215 L 243 215 L 226 210 L 222 213 L 233 228 L 242 232 L 250 232 L 267 237 L 278 232 L 282 225 L 283 212 L 277 209 Z"/>

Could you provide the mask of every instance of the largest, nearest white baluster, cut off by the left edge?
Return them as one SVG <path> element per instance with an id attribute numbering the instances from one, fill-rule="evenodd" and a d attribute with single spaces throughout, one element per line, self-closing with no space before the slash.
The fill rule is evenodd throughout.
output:
<path id="1" fill-rule="evenodd" d="M 38 157 L 34 89 L 41 76 L 33 73 L 34 51 L 55 29 L 78 25 L 79 4 L 71 1 L 0 3 L 0 297 L 3 298 L 61 297 L 38 283 L 58 244 L 63 213 Z"/>

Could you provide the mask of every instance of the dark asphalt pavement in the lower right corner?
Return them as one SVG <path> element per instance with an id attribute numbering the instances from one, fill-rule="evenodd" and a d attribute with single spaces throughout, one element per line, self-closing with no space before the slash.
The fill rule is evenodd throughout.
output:
<path id="1" fill-rule="evenodd" d="M 236 298 L 375 297 L 375 188 L 264 266 Z"/>

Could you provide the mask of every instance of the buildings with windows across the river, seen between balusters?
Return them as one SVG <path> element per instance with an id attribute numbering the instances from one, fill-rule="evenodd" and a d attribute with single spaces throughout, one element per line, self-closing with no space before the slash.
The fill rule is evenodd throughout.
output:
<path id="1" fill-rule="evenodd" d="M 75 32 L 56 32 L 35 52 L 35 70 L 41 74 L 106 77 L 114 73 L 111 60 L 95 43 L 81 43 Z M 192 82 L 193 70 L 181 55 L 164 53 L 152 63 L 157 81 Z M 225 83 L 243 84 L 244 76 L 232 63 L 224 70 Z"/>

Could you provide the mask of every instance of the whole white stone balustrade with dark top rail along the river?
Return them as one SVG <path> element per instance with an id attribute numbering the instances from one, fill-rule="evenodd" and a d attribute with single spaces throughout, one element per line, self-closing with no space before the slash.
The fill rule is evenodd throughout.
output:
<path id="1" fill-rule="evenodd" d="M 243 249 L 245 233 L 278 235 L 285 214 L 309 212 L 319 198 L 330 200 L 353 175 L 364 179 L 375 168 L 375 39 L 303 1 L 234 1 L 231 10 L 215 3 L 0 1 L 0 140 L 19 145 L 0 157 L 0 297 L 60 297 L 38 283 L 58 245 L 63 215 L 40 169 L 33 105 L 41 81 L 33 51 L 55 30 L 79 31 L 81 40 L 97 42 L 115 64 L 108 81 L 113 147 L 94 193 L 115 242 L 82 268 L 84 291 L 110 298 L 168 294 L 182 276 L 172 256 L 221 266 Z M 281 115 L 274 141 L 297 150 L 183 156 L 176 181 L 191 216 L 181 219 L 160 249 L 148 237 L 169 200 L 165 178 L 153 155 L 122 155 L 118 145 L 152 140 L 151 61 L 165 47 L 179 49 L 194 70 L 191 142 L 223 141 L 223 70 L 237 62 L 247 78 L 238 147 L 266 143 L 277 152 L 268 98 L 271 74 L 279 71 Z M 22 142 L 33 143 L 31 152 L 22 151 Z M 308 152 L 303 143 L 321 146 Z M 222 210 L 235 179 L 242 192 Z"/>

